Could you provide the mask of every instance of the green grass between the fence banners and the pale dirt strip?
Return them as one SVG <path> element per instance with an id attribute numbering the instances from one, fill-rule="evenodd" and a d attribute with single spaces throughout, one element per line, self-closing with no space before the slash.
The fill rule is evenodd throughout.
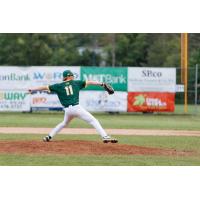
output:
<path id="1" fill-rule="evenodd" d="M 94 114 L 104 128 L 200 130 L 199 115 L 179 114 Z M 54 127 L 63 120 L 62 112 L 0 113 L 0 126 Z M 82 120 L 74 119 L 71 128 L 89 128 Z"/>

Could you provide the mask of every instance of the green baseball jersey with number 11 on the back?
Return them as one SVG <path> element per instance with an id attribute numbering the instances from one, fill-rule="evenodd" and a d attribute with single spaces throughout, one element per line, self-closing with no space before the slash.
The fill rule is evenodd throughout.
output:
<path id="1" fill-rule="evenodd" d="M 54 85 L 49 85 L 49 90 L 58 95 L 64 107 L 79 104 L 79 91 L 86 87 L 86 81 L 70 80 Z"/>

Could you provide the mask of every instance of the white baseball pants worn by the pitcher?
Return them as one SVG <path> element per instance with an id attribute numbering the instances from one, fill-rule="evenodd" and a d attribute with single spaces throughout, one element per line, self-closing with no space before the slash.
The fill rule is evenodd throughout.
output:
<path id="1" fill-rule="evenodd" d="M 82 106 L 80 105 L 69 106 L 68 108 L 64 108 L 64 111 L 65 111 L 64 120 L 49 133 L 49 136 L 54 137 L 59 131 L 61 131 L 62 128 L 67 126 L 74 117 L 78 117 L 86 121 L 88 124 L 91 124 L 100 134 L 101 137 L 108 136 L 107 133 L 102 128 L 102 126 L 100 125 L 99 121 L 95 119 L 94 116 L 92 116 Z"/>

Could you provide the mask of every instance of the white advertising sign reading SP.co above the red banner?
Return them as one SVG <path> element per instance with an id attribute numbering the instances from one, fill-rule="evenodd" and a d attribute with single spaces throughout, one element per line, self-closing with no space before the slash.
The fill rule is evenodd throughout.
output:
<path id="1" fill-rule="evenodd" d="M 176 69 L 156 67 L 129 67 L 129 92 L 176 91 Z"/>

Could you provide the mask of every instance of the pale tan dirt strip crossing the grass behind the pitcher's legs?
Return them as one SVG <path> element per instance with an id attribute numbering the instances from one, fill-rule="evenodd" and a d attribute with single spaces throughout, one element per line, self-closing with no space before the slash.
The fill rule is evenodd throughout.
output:
<path id="1" fill-rule="evenodd" d="M 0 133 L 7 134 L 47 134 L 52 128 L 0 127 Z M 157 136 L 200 136 L 200 131 L 187 130 L 142 130 L 106 129 L 111 135 L 157 135 Z M 92 128 L 64 128 L 59 134 L 97 134 Z"/>

